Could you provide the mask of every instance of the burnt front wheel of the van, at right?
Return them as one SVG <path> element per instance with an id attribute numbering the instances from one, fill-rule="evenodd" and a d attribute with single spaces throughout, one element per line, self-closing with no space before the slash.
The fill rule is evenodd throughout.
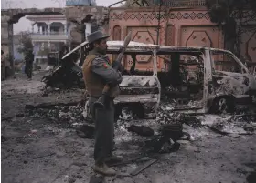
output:
<path id="1" fill-rule="evenodd" d="M 222 114 L 235 111 L 235 102 L 233 97 L 215 98 L 210 108 L 210 113 Z"/>

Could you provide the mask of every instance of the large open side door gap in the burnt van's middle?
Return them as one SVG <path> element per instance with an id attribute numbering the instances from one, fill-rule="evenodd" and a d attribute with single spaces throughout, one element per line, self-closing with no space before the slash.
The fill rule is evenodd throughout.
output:
<path id="1" fill-rule="evenodd" d="M 174 52 L 158 57 L 164 59 L 164 64 L 168 66 L 158 73 L 165 94 L 186 100 L 183 104 L 203 98 L 204 58 L 202 53 Z"/>

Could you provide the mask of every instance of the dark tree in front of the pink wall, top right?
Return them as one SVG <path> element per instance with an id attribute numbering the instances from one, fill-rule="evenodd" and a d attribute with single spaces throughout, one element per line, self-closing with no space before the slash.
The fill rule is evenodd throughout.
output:
<path id="1" fill-rule="evenodd" d="M 255 21 L 255 0 L 207 0 L 206 5 L 210 13 L 210 20 L 222 27 L 224 32 L 224 45 L 226 49 L 240 56 L 241 36 L 243 27 Z M 251 11 L 251 14 L 248 14 Z M 251 26 L 251 31 L 256 26 Z"/>

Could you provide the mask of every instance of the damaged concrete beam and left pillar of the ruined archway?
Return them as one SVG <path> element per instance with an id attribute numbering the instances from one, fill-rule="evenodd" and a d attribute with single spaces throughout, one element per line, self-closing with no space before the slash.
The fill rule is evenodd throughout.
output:
<path id="1" fill-rule="evenodd" d="M 5 44 L 8 45 L 8 62 L 14 71 L 14 46 L 13 46 L 13 24 L 25 15 L 65 15 L 67 19 L 75 19 L 77 22 L 91 22 L 95 20 L 98 25 L 102 25 L 108 18 L 108 9 L 103 6 L 69 6 L 64 8 L 48 7 L 44 9 L 27 8 L 27 9 L 1 9 L 1 25 L 5 23 L 7 38 Z M 4 21 L 3 21 L 4 20 Z"/>

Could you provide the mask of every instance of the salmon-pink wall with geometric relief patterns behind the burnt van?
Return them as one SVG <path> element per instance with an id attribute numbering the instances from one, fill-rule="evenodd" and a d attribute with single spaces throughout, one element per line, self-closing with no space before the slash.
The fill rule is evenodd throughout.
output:
<path id="1" fill-rule="evenodd" d="M 157 10 L 148 7 L 133 9 L 111 8 L 109 33 L 112 40 L 123 40 L 129 30 L 133 31 L 133 41 L 156 44 Z M 209 46 L 224 48 L 222 30 L 210 21 L 208 10 L 199 8 L 173 8 L 166 14 L 161 13 L 159 45 L 164 46 Z M 254 25 L 255 26 L 255 25 Z M 245 36 L 243 34 L 241 55 L 256 57 L 256 34 Z M 248 41 L 251 37 L 251 41 Z M 252 40 L 253 39 L 253 40 Z M 255 48 L 253 48 L 253 46 Z M 137 56 L 140 62 L 149 63 L 150 56 Z M 251 59 L 252 60 L 252 59 Z M 124 57 L 124 66 L 129 69 L 133 62 L 130 56 Z M 149 64 L 147 64 L 149 66 Z M 148 69 L 145 64 L 136 66 Z M 157 67 L 160 71 L 164 68 L 162 59 L 158 59 Z"/>

